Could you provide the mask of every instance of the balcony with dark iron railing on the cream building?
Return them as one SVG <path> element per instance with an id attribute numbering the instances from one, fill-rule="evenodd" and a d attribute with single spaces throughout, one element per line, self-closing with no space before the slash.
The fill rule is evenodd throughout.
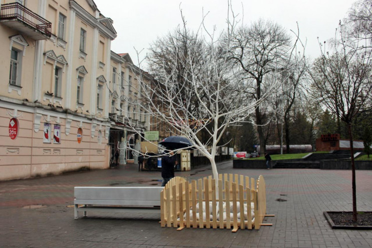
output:
<path id="1" fill-rule="evenodd" d="M 1 4 L 0 22 L 34 40 L 51 36 L 51 22 L 17 2 Z"/>

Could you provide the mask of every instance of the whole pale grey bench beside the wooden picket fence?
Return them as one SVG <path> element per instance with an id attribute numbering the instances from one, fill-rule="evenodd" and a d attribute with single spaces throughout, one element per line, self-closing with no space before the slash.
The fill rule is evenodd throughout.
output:
<path id="1" fill-rule="evenodd" d="M 159 213 L 163 187 L 75 187 L 74 217 L 88 210 Z M 79 206 L 83 205 L 83 206 Z"/>

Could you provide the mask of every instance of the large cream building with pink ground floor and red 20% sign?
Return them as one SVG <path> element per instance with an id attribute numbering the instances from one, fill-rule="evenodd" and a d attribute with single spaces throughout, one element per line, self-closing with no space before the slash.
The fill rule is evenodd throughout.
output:
<path id="1" fill-rule="evenodd" d="M 130 81 L 112 20 L 93 0 L 1 0 L 0 11 L 0 180 L 108 168 L 111 101 L 126 106 L 113 68 Z"/>

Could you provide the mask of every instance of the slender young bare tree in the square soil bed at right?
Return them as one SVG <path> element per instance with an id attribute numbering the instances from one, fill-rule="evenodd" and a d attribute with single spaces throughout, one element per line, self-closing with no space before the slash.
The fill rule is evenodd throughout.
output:
<path id="1" fill-rule="evenodd" d="M 339 25 L 339 38 L 332 43 L 333 51 L 322 51 L 312 68 L 314 94 L 348 126 L 353 173 L 353 219 L 357 221 L 357 196 L 353 148 L 353 119 L 371 97 L 371 51 L 344 38 Z"/>

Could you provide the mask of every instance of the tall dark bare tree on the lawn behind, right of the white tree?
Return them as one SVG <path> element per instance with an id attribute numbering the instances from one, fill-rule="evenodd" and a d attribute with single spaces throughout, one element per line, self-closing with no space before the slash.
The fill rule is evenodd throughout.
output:
<path id="1" fill-rule="evenodd" d="M 230 45 L 225 51 L 228 58 L 241 69 L 242 77 L 246 81 L 254 82 L 251 85 L 253 90 L 248 92 L 254 100 L 261 101 L 263 95 L 270 93 L 272 81 L 266 78 L 268 75 L 290 67 L 289 61 L 297 41 L 296 38 L 293 44 L 290 35 L 282 26 L 263 19 L 251 26 L 234 30 L 228 37 Z M 264 153 L 266 143 L 262 126 L 265 123 L 260 105 L 255 107 L 255 117 L 261 153 Z"/>

